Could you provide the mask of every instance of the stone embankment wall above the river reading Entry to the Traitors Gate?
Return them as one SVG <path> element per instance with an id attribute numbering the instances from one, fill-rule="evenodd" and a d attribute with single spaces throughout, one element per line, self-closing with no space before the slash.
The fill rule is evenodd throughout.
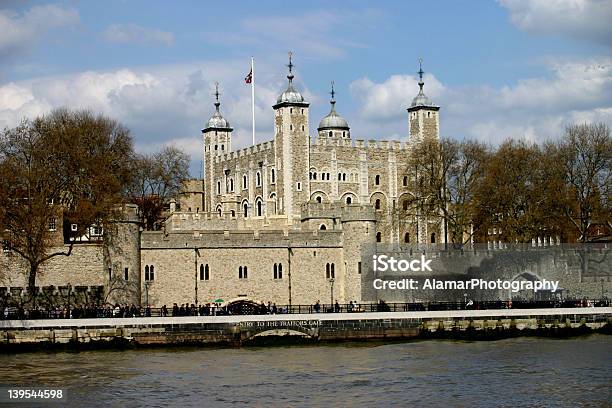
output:
<path id="1" fill-rule="evenodd" d="M 496 339 L 610 333 L 612 308 L 330 313 L 0 322 L 0 351 L 53 347 Z"/>

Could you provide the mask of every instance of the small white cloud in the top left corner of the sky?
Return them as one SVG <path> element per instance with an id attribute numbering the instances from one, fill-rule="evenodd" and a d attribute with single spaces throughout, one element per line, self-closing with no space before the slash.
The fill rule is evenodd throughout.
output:
<path id="1" fill-rule="evenodd" d="M 76 10 L 52 4 L 34 6 L 22 14 L 0 10 L 0 57 L 22 51 L 49 30 L 78 22 Z"/>

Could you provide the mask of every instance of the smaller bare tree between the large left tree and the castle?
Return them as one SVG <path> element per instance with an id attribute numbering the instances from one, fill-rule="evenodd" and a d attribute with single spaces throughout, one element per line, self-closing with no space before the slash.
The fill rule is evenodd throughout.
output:
<path id="1" fill-rule="evenodd" d="M 165 207 L 189 177 L 189 156 L 167 146 L 152 155 L 139 155 L 133 174 L 130 196 L 138 204 L 141 222 L 147 230 L 157 230 Z"/>

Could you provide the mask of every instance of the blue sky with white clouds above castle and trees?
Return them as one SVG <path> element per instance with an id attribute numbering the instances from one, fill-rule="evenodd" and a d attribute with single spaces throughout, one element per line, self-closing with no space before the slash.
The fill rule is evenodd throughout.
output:
<path id="1" fill-rule="evenodd" d="M 292 51 L 313 136 L 334 81 L 354 139 L 406 140 L 422 58 L 442 137 L 554 140 L 570 123 L 612 126 L 610 21 L 611 0 L 0 0 L 0 129 L 90 109 L 140 152 L 182 148 L 197 177 L 215 82 L 246 147 L 255 58 L 256 139 L 271 140 Z"/>

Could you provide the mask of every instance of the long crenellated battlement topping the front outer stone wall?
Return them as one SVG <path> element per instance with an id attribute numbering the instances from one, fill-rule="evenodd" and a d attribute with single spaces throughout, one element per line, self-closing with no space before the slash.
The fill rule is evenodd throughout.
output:
<path id="1" fill-rule="evenodd" d="M 342 247 L 342 231 L 145 231 L 142 249 Z"/>

